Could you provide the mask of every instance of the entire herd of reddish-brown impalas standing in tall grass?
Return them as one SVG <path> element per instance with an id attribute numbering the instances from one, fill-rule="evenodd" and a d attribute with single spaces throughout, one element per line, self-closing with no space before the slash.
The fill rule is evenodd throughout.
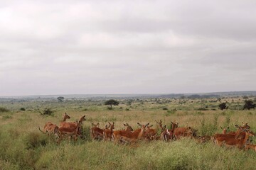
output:
<path id="1" fill-rule="evenodd" d="M 58 143 L 63 140 L 64 137 L 73 137 L 77 140 L 78 136 L 82 134 L 82 122 L 85 121 L 85 115 L 83 115 L 80 120 L 76 122 L 66 122 L 70 119 L 70 116 L 65 113 L 63 121 L 60 122 L 60 127 L 54 125 L 53 123 L 46 123 L 43 130 L 39 130 L 43 133 L 54 134 L 58 137 Z M 199 143 L 207 142 L 212 140 L 215 145 L 225 146 L 225 147 L 238 147 L 238 149 L 253 149 L 256 152 L 256 145 L 252 145 L 248 140 L 249 137 L 255 136 L 250 130 L 250 126 L 247 123 L 242 123 L 242 126 L 235 125 L 238 130 L 236 132 L 227 132 L 228 128 L 222 128 L 222 134 L 215 134 L 213 136 L 198 136 L 196 135 L 197 130 L 186 127 L 178 128 L 178 123 L 171 122 L 171 129 L 167 129 L 166 125 L 162 124 L 160 120 L 156 121 L 158 128 L 151 128 L 153 125 L 142 125 L 137 123 L 140 128 L 133 130 L 133 128 L 128 124 L 124 124 L 124 130 L 114 130 L 114 122 L 105 125 L 105 128 L 100 128 L 100 124 L 92 123 L 92 128 L 90 128 L 90 135 L 92 140 L 105 140 L 114 141 L 116 143 L 131 143 L 137 140 L 164 140 L 166 142 L 172 140 L 179 140 L 181 137 L 189 137 L 196 140 Z M 159 130 L 161 133 L 159 133 Z"/>

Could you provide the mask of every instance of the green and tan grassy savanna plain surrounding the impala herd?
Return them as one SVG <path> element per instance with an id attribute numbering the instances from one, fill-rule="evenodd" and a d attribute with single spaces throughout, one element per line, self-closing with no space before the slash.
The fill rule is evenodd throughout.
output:
<path id="1" fill-rule="evenodd" d="M 254 100 L 254 98 L 249 98 Z M 191 126 L 198 135 L 221 132 L 220 126 L 236 130 L 235 125 L 246 122 L 256 132 L 256 111 L 242 111 L 242 97 L 221 98 L 144 98 L 120 99 L 112 110 L 104 99 L 12 100 L 0 101 L 0 169 L 255 169 L 256 152 L 217 147 L 213 142 L 198 144 L 194 140 L 174 142 L 137 142 L 115 145 L 90 139 L 91 123 L 115 123 L 115 130 L 129 123 L 134 129 L 137 122 L 171 121 L 179 127 Z M 218 105 L 228 103 L 228 110 Z M 46 108 L 53 115 L 41 115 Z M 77 142 L 63 140 L 56 144 L 38 130 L 50 121 L 60 124 L 64 113 L 75 121 L 86 115 L 83 124 L 84 139 Z M 256 137 L 252 142 L 256 143 Z"/>

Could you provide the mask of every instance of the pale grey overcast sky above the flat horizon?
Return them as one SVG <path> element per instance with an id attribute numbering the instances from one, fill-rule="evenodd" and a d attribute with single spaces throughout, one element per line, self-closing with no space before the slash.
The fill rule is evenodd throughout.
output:
<path id="1" fill-rule="evenodd" d="M 256 90 L 255 9 L 255 0 L 0 0 L 0 96 Z"/>

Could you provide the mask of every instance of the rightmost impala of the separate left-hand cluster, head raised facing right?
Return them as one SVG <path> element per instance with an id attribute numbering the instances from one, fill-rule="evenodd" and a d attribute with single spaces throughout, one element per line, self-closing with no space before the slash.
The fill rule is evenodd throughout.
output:
<path id="1" fill-rule="evenodd" d="M 63 140 L 63 137 L 65 136 L 75 137 L 74 140 L 76 141 L 78 139 L 78 129 L 80 128 L 81 123 L 82 122 L 79 121 L 75 128 L 65 128 L 65 127 L 55 128 L 54 131 L 59 136 L 58 144 L 60 144 L 60 141 Z"/>

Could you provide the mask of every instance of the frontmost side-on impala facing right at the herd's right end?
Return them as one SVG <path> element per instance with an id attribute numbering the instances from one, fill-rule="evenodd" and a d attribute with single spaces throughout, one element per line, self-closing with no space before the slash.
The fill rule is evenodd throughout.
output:
<path id="1" fill-rule="evenodd" d="M 238 149 L 242 149 L 242 147 L 245 146 L 248 138 L 250 136 L 255 136 L 255 134 L 248 129 L 242 130 L 245 131 L 244 139 L 235 139 L 233 136 L 215 137 L 216 145 L 221 147 L 224 144 L 226 147 L 238 147 Z"/>

